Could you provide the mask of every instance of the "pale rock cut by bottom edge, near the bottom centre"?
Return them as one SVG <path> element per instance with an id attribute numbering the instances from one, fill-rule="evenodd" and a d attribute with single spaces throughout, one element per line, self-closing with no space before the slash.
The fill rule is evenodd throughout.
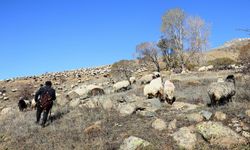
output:
<path id="1" fill-rule="evenodd" d="M 139 149 L 150 149 L 153 147 L 151 143 L 141 138 L 130 136 L 125 139 L 120 146 L 119 150 L 139 150 Z"/>

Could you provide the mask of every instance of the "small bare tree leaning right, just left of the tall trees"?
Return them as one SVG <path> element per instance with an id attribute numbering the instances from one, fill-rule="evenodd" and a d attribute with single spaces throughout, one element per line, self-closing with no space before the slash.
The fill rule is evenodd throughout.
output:
<path id="1" fill-rule="evenodd" d="M 144 42 L 136 46 L 136 53 L 140 60 L 144 62 L 152 63 L 158 72 L 160 72 L 159 64 L 159 48 L 154 42 Z"/>

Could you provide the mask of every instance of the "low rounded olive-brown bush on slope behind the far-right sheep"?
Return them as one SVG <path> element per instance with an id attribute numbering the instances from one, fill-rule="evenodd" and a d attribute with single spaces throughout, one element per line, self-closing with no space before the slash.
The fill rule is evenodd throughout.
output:
<path id="1" fill-rule="evenodd" d="M 214 60 L 208 61 L 208 65 L 213 65 L 215 69 L 223 70 L 229 69 L 229 66 L 235 64 L 236 62 L 230 58 L 216 58 Z"/>

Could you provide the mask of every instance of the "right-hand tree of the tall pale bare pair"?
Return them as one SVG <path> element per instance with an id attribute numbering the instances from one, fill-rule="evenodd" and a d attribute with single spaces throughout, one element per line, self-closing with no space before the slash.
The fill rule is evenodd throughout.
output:
<path id="1" fill-rule="evenodd" d="M 200 64 L 203 50 L 208 47 L 209 26 L 199 16 L 190 16 L 187 18 L 187 58 L 186 62 L 193 64 Z"/>

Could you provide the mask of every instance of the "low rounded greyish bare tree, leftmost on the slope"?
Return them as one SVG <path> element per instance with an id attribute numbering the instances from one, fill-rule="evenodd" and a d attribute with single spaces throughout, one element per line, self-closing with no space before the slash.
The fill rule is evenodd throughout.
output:
<path id="1" fill-rule="evenodd" d="M 131 85 L 130 77 L 133 73 L 134 64 L 129 60 L 121 60 L 111 66 L 111 74 L 114 78 L 125 78 Z"/>

